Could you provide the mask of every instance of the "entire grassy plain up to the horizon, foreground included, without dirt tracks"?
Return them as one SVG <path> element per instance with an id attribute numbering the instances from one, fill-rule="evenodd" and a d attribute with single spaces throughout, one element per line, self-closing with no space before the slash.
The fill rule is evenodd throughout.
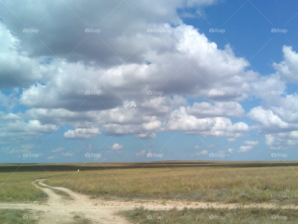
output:
<path id="1" fill-rule="evenodd" d="M 0 165 L 0 202 L 44 202 L 47 195 L 31 182 L 45 178 L 50 186 L 63 186 L 92 198 L 183 200 L 221 203 L 298 205 L 298 166 L 270 162 L 152 162 L 96 164 Z M 47 170 L 45 171 L 44 168 Z M 78 172 L 77 169 L 80 168 Z M 34 170 L 34 171 L 31 171 Z M 58 191 L 69 198 L 64 192 Z M 28 213 L 28 212 L 27 212 Z M 0 223 L 34 223 L 26 211 L 0 209 Z M 252 224 L 297 223 L 295 209 L 184 209 L 121 212 L 142 224 Z M 162 218 L 161 218 L 162 217 Z M 211 217 L 211 218 L 210 218 Z M 212 218 L 213 217 L 213 218 Z M 223 218 L 224 217 L 224 218 Z M 75 217 L 74 223 L 88 223 Z"/>

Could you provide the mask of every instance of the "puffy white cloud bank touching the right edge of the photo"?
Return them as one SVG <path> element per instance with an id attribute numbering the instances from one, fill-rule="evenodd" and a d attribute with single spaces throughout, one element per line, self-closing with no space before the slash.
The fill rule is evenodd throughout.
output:
<path id="1" fill-rule="evenodd" d="M 298 145 L 298 95 L 287 92 L 291 91 L 287 90 L 290 83 L 297 83 L 298 54 L 291 46 L 283 46 L 282 51 L 284 60 L 273 63 L 277 71 L 253 84 L 255 95 L 263 103 L 248 113 L 257 122 L 252 128 L 265 134 L 265 141 L 271 149 Z"/>

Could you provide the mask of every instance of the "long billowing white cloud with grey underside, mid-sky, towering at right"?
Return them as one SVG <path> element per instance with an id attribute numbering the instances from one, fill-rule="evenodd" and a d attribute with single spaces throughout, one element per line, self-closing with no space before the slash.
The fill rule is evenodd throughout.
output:
<path id="1" fill-rule="evenodd" d="M 217 101 L 248 97 L 249 83 L 256 81 L 258 75 L 244 71 L 248 65 L 246 60 L 235 57 L 229 48 L 217 49 L 215 43 L 209 42 L 192 26 L 182 24 L 174 28 L 165 24 L 164 29 L 160 39 L 165 39 L 165 46 L 169 42 L 172 46 L 161 54 L 148 43 L 150 65 L 131 63 L 111 68 L 86 68 L 82 63 L 62 63 L 61 68 L 51 74 L 51 80 L 27 90 L 38 92 L 38 95 L 23 95 L 21 100 L 35 108 L 75 111 L 115 108 L 124 100 L 145 103 L 156 97 L 148 95 L 148 91 L 161 92 L 163 96 L 187 95 Z M 185 62 L 181 57 L 190 59 Z M 86 91 L 91 94 L 86 95 Z M 230 109 L 237 106 L 233 116 L 243 114 L 240 105 L 232 104 L 218 103 L 219 107 Z"/>

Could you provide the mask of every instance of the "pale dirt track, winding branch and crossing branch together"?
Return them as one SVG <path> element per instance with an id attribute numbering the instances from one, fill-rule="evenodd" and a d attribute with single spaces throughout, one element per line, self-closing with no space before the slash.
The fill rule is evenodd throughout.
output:
<path id="1" fill-rule="evenodd" d="M 223 204 L 223 203 L 202 203 L 202 202 L 181 202 L 134 200 L 129 202 L 119 200 L 89 199 L 84 194 L 79 194 L 63 187 L 51 187 L 43 183 L 44 179 L 32 182 L 38 189 L 43 190 L 48 195 L 46 203 L 0 203 L 0 209 L 30 209 L 39 216 L 40 224 L 71 224 L 74 223 L 74 216 L 88 218 L 92 223 L 99 224 L 129 224 L 123 217 L 115 215 L 115 212 L 129 210 L 135 207 L 144 206 L 151 210 L 168 210 L 171 208 L 243 208 L 241 204 Z M 43 187 L 41 187 L 43 186 Z M 55 194 L 55 190 L 63 191 L 71 196 L 71 199 Z M 247 204 L 244 208 L 274 208 L 268 203 Z M 294 208 L 293 206 L 280 206 L 279 208 Z"/>

